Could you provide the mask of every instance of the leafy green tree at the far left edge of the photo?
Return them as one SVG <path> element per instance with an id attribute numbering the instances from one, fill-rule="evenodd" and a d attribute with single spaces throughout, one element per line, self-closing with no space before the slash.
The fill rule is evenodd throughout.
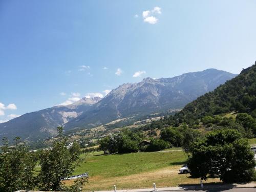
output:
<path id="1" fill-rule="evenodd" d="M 10 146 L 5 138 L 0 154 L 0 191 L 19 189 L 32 190 L 35 187 L 34 167 L 36 158 L 17 137 Z"/>

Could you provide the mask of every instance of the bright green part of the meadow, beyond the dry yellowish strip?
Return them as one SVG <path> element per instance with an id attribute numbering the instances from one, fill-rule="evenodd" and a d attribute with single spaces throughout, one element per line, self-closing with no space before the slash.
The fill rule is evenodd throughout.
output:
<path id="1" fill-rule="evenodd" d="M 84 155 L 83 155 L 84 156 Z M 150 171 L 170 165 L 183 165 L 184 152 L 131 153 L 103 155 L 103 152 L 91 153 L 86 162 L 75 170 L 75 175 L 89 172 L 90 176 L 118 177 Z"/>

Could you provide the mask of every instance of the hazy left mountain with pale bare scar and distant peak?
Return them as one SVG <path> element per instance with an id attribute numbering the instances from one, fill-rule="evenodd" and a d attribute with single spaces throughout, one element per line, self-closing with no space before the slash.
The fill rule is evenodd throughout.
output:
<path id="1" fill-rule="evenodd" d="M 56 127 L 86 112 L 101 98 L 82 98 L 67 106 L 54 106 L 45 110 L 24 114 L 0 124 L 1 137 L 22 137 L 40 139 L 56 134 Z"/>

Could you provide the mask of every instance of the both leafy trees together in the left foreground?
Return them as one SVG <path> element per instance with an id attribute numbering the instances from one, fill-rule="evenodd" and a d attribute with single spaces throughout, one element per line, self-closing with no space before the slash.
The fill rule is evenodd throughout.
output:
<path id="1" fill-rule="evenodd" d="M 83 161 L 79 158 L 79 144 L 74 142 L 68 148 L 62 127 L 57 131 L 58 139 L 52 148 L 35 153 L 30 153 L 28 146 L 19 138 L 13 143 L 4 139 L 0 154 L 0 191 L 80 191 L 87 178 L 77 180 L 72 186 L 65 186 L 62 182 L 72 176 L 74 168 Z"/>

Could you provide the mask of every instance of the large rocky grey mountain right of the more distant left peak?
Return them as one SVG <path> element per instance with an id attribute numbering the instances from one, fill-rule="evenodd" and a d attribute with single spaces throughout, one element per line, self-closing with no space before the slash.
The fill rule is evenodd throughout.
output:
<path id="1" fill-rule="evenodd" d="M 92 127 L 117 118 L 180 109 L 234 76 L 208 69 L 173 78 L 145 78 L 139 83 L 125 83 L 111 91 L 87 113 L 66 123 L 65 127 Z"/>

